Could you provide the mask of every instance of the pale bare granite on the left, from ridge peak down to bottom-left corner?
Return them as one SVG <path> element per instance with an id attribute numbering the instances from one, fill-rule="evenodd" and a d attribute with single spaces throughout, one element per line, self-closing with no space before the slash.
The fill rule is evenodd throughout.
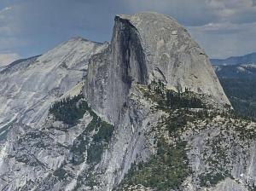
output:
<path id="1" fill-rule="evenodd" d="M 0 181 L 0 190 L 15 190 L 24 186 L 24 176 L 31 181 L 44 177 L 45 164 L 50 164 L 49 168 L 61 164 L 60 153 L 63 153 L 63 148 L 55 144 L 49 146 L 49 142 L 58 139 L 57 135 L 52 138 L 49 134 L 41 134 L 39 129 L 43 127 L 49 107 L 55 101 L 77 95 L 82 90 L 82 80 L 87 73 L 91 55 L 106 46 L 106 43 L 72 38 L 44 55 L 15 61 L 0 72 L 0 175 L 11 177 Z M 25 139 L 22 138 L 23 134 Z M 73 131 L 68 135 L 71 142 L 74 139 L 72 134 Z M 41 144 L 48 147 L 45 153 L 43 148 L 34 147 L 40 141 L 47 142 Z M 24 149 L 27 152 L 21 152 Z M 13 161 L 8 158 L 9 155 L 17 158 Z M 20 167 L 19 159 L 22 157 L 21 164 L 26 164 L 25 161 L 33 162 Z M 19 169 L 22 169 L 20 173 L 15 172 Z"/>

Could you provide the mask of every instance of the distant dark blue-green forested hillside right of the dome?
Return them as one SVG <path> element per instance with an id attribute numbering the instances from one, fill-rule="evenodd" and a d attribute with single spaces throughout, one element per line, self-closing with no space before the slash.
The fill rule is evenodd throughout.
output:
<path id="1" fill-rule="evenodd" d="M 235 110 L 256 119 L 256 65 L 215 66 L 215 70 Z"/>

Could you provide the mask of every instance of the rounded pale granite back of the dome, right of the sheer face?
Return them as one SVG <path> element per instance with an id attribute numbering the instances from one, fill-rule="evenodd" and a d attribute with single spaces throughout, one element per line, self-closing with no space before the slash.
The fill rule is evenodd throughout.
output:
<path id="1" fill-rule="evenodd" d="M 160 80 L 171 89 L 189 88 L 230 104 L 205 51 L 177 20 L 164 14 L 143 12 L 119 14 L 115 21 L 124 27 L 129 23 L 135 29 L 147 62 L 148 83 Z"/>

